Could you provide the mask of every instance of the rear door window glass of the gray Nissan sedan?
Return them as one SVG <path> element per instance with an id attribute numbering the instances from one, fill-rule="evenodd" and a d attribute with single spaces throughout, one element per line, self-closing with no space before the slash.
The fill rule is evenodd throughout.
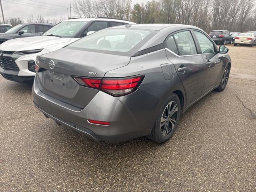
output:
<path id="1" fill-rule="evenodd" d="M 195 55 L 196 46 L 190 31 L 182 31 L 173 35 L 180 55 Z"/>

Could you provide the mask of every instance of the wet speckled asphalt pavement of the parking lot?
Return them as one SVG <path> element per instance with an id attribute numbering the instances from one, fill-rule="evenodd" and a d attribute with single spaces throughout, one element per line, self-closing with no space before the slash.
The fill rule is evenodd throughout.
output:
<path id="1" fill-rule="evenodd" d="M 224 92 L 186 112 L 174 136 L 98 143 L 32 106 L 0 77 L 0 191 L 256 191 L 256 47 L 229 46 Z"/>

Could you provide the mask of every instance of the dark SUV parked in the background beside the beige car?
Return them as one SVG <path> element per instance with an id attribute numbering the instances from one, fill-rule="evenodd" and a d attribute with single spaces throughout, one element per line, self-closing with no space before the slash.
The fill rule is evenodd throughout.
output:
<path id="1" fill-rule="evenodd" d="M 216 44 L 231 44 L 233 40 L 232 35 L 227 30 L 213 30 L 210 32 L 209 36 Z"/>

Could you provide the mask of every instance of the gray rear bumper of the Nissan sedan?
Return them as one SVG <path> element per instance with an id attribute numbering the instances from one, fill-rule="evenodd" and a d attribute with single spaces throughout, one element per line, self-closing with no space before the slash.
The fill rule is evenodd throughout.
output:
<path id="1" fill-rule="evenodd" d="M 32 94 L 35 106 L 46 116 L 97 141 L 116 143 L 146 136 L 154 126 L 154 113 L 146 109 L 140 112 L 141 106 L 129 109 L 125 104 L 129 98 L 120 100 L 99 91 L 85 108 L 77 108 L 41 92 L 36 78 Z M 110 125 L 90 124 L 88 119 L 109 122 Z"/>

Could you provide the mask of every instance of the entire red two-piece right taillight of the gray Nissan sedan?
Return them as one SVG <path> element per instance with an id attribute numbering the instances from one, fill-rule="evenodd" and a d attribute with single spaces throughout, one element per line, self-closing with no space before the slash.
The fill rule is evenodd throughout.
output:
<path id="1" fill-rule="evenodd" d="M 126 78 L 83 78 L 73 77 L 78 84 L 102 90 L 112 96 L 124 96 L 137 90 L 144 75 Z"/>

